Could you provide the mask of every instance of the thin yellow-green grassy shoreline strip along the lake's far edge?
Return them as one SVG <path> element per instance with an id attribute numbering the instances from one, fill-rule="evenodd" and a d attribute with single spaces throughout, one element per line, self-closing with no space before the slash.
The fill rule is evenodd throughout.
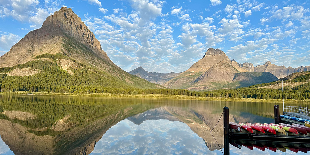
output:
<path id="1" fill-rule="evenodd" d="M 185 95 L 159 95 L 159 94 L 110 94 L 110 93 L 52 93 L 52 92 L 29 92 L 29 91 L 13 91 L 0 92 L 0 94 L 15 95 L 57 95 L 57 96 L 92 96 L 92 97 L 123 97 L 123 98 L 153 98 L 153 99 L 178 99 L 178 100 L 214 100 L 214 101 L 243 101 L 243 102 L 280 102 L 282 99 L 254 99 L 254 98 L 219 98 L 219 97 L 196 97 Z M 285 102 L 291 103 L 310 103 L 310 100 L 294 100 L 284 99 Z"/>

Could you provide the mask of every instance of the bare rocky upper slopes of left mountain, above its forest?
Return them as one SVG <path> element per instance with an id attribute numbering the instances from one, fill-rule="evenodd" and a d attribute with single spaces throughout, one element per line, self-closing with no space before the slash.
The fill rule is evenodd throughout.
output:
<path id="1" fill-rule="evenodd" d="M 104 72 L 101 74 L 107 75 L 105 77 L 108 80 L 116 80 L 116 83 L 120 81 L 118 83 L 122 85 L 138 88 L 164 88 L 137 78 L 115 65 L 101 49 L 100 42 L 94 34 L 71 8 L 62 7 L 47 17 L 40 29 L 29 32 L 10 51 L 0 57 L 0 67 L 12 67 L 38 60 L 36 57 L 43 54 L 64 55 L 81 63 L 82 66 L 86 65 L 95 69 L 92 72 Z M 39 60 L 53 61 L 45 58 Z M 70 67 L 74 68 L 67 66 L 68 73 Z M 72 70 L 74 69 L 71 69 L 71 72 Z"/>

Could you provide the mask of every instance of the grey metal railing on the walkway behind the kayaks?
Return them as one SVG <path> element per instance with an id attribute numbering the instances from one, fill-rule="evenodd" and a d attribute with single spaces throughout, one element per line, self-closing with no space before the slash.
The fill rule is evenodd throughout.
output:
<path id="1" fill-rule="evenodd" d="M 303 119 L 310 118 L 310 112 L 308 112 L 307 107 L 298 107 L 298 106 L 284 106 L 283 114 L 292 116 L 292 117 L 300 117 Z"/>

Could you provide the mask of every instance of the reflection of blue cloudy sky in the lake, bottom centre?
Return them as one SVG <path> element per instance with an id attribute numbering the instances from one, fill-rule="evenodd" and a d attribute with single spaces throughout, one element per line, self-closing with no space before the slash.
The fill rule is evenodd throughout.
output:
<path id="1" fill-rule="evenodd" d="M 125 119 L 112 126 L 91 154 L 222 154 L 210 151 L 186 124 L 146 120 L 139 126 Z"/>

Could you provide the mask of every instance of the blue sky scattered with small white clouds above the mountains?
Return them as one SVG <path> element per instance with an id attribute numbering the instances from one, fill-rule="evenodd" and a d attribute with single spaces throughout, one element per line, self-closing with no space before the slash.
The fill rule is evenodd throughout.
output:
<path id="1" fill-rule="evenodd" d="M 0 0 L 0 55 L 61 7 L 127 72 L 182 72 L 210 47 L 254 66 L 310 65 L 309 0 Z"/>

